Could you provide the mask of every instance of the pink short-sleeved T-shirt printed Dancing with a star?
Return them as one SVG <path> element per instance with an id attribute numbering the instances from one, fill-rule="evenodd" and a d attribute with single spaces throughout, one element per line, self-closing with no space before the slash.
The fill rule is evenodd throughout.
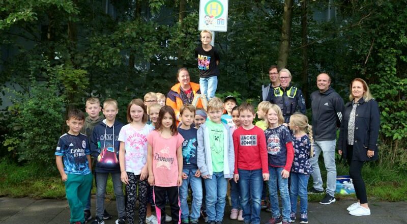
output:
<path id="1" fill-rule="evenodd" d="M 177 186 L 178 160 L 177 149 L 182 146 L 184 138 L 180 133 L 170 138 L 161 137 L 160 132 L 152 131 L 147 142 L 153 148 L 154 184 L 159 187 Z"/>

